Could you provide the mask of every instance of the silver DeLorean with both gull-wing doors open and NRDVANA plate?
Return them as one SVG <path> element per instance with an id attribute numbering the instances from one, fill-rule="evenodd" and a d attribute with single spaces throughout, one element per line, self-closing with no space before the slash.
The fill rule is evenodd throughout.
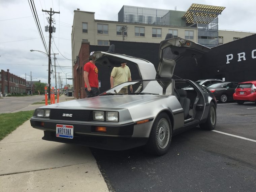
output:
<path id="1" fill-rule="evenodd" d="M 171 137 L 200 126 L 213 130 L 217 101 L 206 88 L 187 79 L 174 79 L 175 65 L 197 63 L 210 48 L 170 38 L 160 43 L 157 71 L 141 58 L 111 52 L 94 52 L 96 64 L 136 65 L 142 80 L 120 84 L 97 97 L 46 105 L 35 110 L 31 126 L 44 131 L 42 139 L 76 143 L 107 150 L 139 146 L 155 155 L 167 153 Z M 132 86 L 132 91 L 130 91 Z M 128 89 L 121 94 L 122 88 Z"/>

